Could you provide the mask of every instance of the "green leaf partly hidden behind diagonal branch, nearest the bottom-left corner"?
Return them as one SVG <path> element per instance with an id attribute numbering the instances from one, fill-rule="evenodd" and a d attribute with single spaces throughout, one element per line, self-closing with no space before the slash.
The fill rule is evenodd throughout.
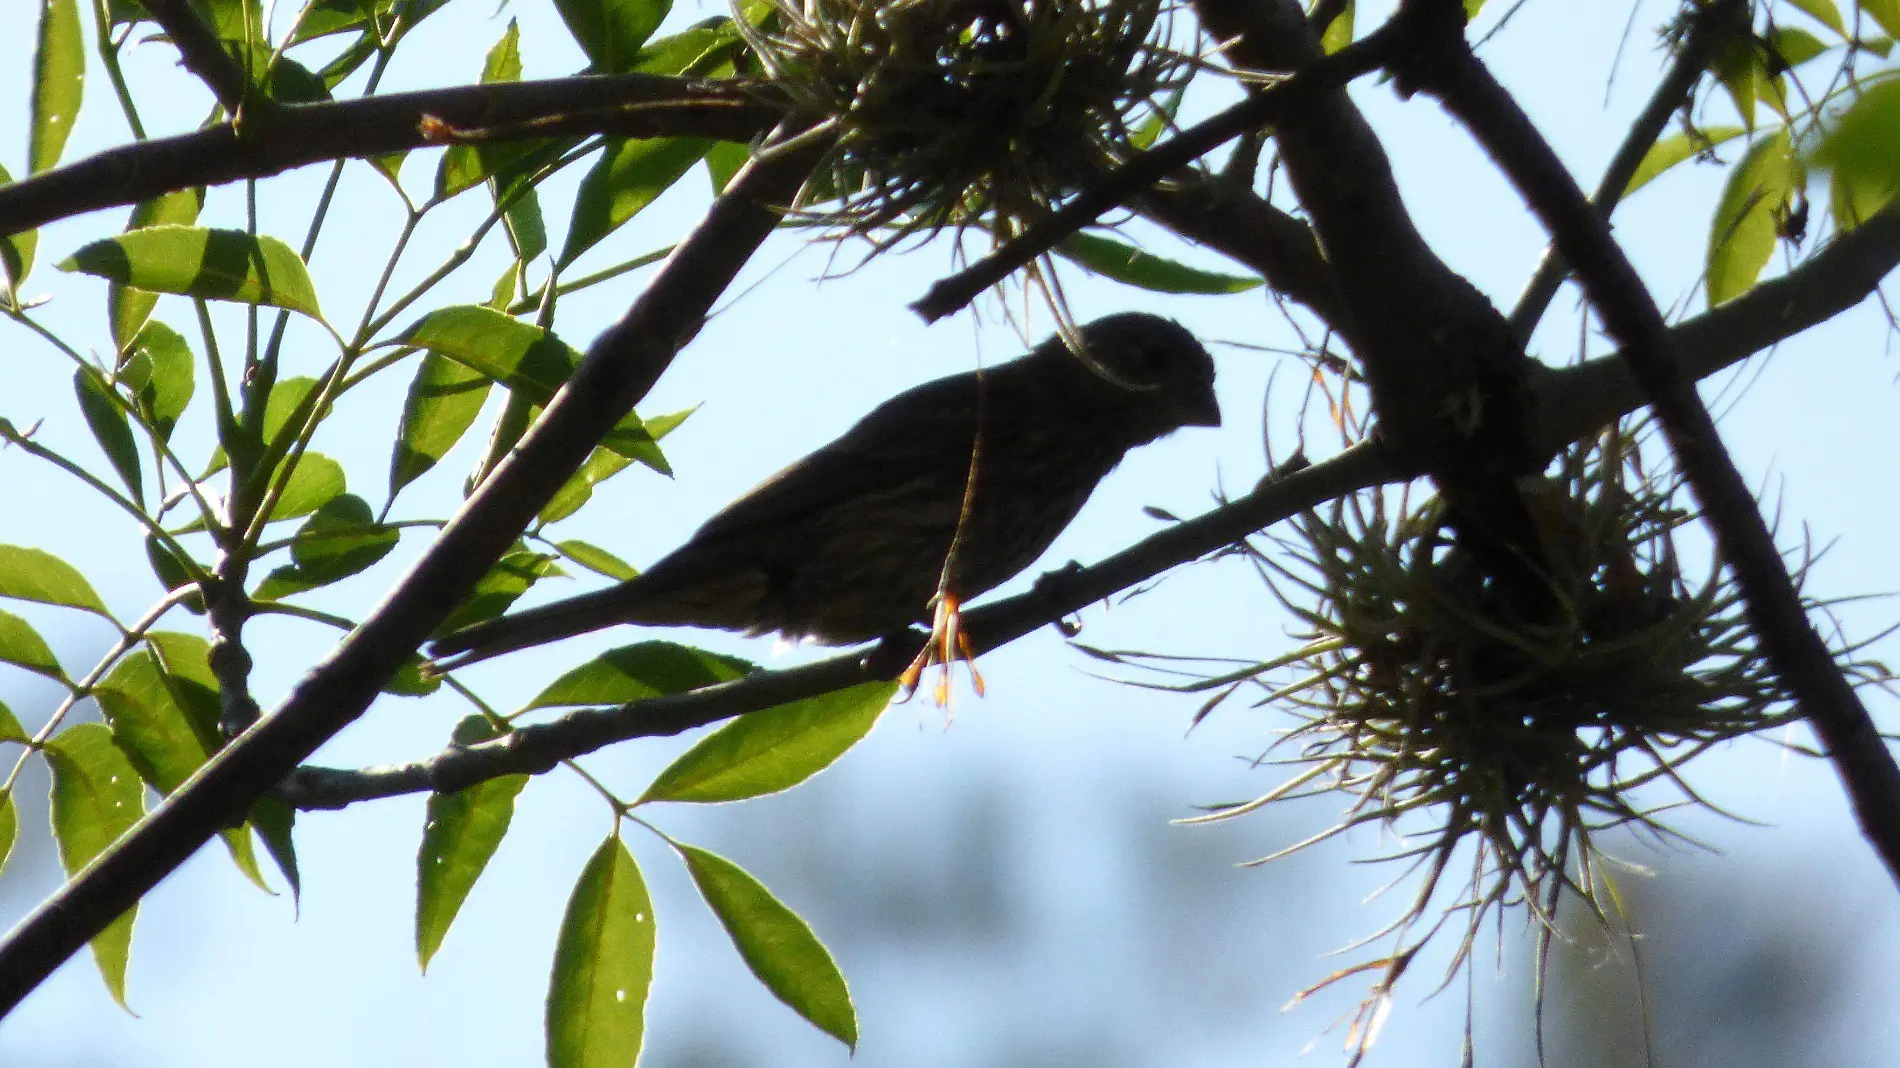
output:
<path id="1" fill-rule="evenodd" d="M 48 739 L 53 770 L 53 842 L 68 876 L 78 874 L 144 813 L 144 785 L 101 724 L 80 724 Z M 93 937 L 93 962 L 112 1000 L 125 1007 L 133 905 Z"/>

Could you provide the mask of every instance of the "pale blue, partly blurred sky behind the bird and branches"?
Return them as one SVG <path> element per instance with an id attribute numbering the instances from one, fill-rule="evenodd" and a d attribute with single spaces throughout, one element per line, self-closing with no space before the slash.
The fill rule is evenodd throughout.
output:
<path id="1" fill-rule="evenodd" d="M 1503 4 L 1493 0 L 1493 8 Z M 1360 17 L 1370 25 L 1385 10 L 1364 4 Z M 1623 4 L 1531 0 L 1484 51 L 1586 186 L 1653 86 L 1662 57 L 1651 30 L 1670 10 L 1666 2 L 1642 4 L 1630 19 Z M 716 11 L 682 0 L 673 23 Z M 496 15 L 492 6 L 464 0 L 405 44 L 407 59 L 386 89 L 471 80 L 509 17 L 522 23 L 528 76 L 581 65 L 551 6 L 519 2 Z M 1634 30 L 1606 99 L 1606 72 L 1626 19 Z M 25 160 L 32 48 L 25 19 L 19 25 L 19 32 L 0 36 L 0 78 L 15 101 L 0 108 L 0 160 L 13 173 Z M 146 105 L 148 120 L 190 124 L 205 114 L 207 97 L 171 65 L 167 46 L 148 44 L 129 57 L 127 72 L 158 93 L 148 101 L 165 101 L 163 108 Z M 68 160 L 125 137 L 104 78 L 87 89 Z M 1427 239 L 1509 306 L 1543 249 L 1516 196 L 1429 101 L 1400 103 L 1372 82 L 1357 86 L 1355 97 L 1385 137 Z M 564 203 L 562 190 L 572 190 L 580 173 L 557 179 L 542 196 L 557 245 L 564 209 L 553 205 Z M 260 186 L 262 228 L 296 243 L 321 175 L 306 169 Z M 418 152 L 407 163 L 410 188 L 426 188 L 431 175 L 433 154 Z M 1685 167 L 1617 215 L 1619 238 L 1664 304 L 1691 302 L 1720 181 L 1714 167 Z M 673 241 L 705 196 L 703 175 L 690 175 L 572 274 Z M 236 224 L 239 205 L 236 192 L 215 192 L 205 220 Z M 338 224 L 312 270 L 325 308 L 353 323 L 401 219 L 388 188 L 361 165 L 346 171 L 336 211 Z M 418 245 L 445 253 L 484 211 L 481 192 L 466 194 L 431 219 Z M 68 220 L 40 238 L 40 266 L 27 291 L 49 295 L 44 321 L 84 344 L 108 344 L 99 315 L 104 287 L 48 264 L 116 230 L 122 217 Z M 1208 255 L 1184 258 L 1224 266 Z M 502 262 L 496 236 L 441 300 L 486 298 Z M 998 361 L 1020 352 L 994 300 L 980 315 L 937 327 L 904 308 L 946 272 L 942 247 L 826 277 L 842 262 L 849 260 L 834 264 L 826 249 L 802 249 L 788 236 L 768 243 L 722 300 L 722 314 L 642 405 L 648 414 L 703 405 L 667 441 L 678 477 L 629 471 L 608 483 L 598 504 L 559 526 L 559 536 L 585 538 L 636 564 L 652 561 L 724 502 L 884 397 L 965 371 L 978 355 Z M 420 277 L 429 266 L 429 257 L 414 257 L 405 274 Z M 557 329 L 583 346 L 644 277 L 627 276 L 566 300 Z M 1075 279 L 1070 295 L 1083 319 L 1140 308 L 1174 315 L 1206 338 L 1220 365 L 1226 426 L 1184 431 L 1132 454 L 1043 566 L 1094 561 L 1146 536 L 1155 521 L 1144 505 L 1193 515 L 1218 488 L 1252 486 L 1265 466 L 1264 420 L 1281 454 L 1296 437 L 1300 365 L 1224 344 L 1298 346 L 1260 293 L 1165 298 Z M 175 298 L 160 304 L 158 317 L 180 329 L 190 323 L 188 306 Z M 226 329 L 239 321 L 238 314 L 220 317 Z M 287 372 L 314 374 L 332 350 L 314 329 L 296 329 Z M 1045 331 L 1047 321 L 1037 321 L 1036 334 Z M 1577 338 L 1566 293 L 1533 348 L 1564 361 Z M 1592 353 L 1604 352 L 1600 340 L 1588 344 Z M 21 426 L 44 418 L 42 441 L 97 456 L 72 403 L 70 367 L 10 323 L 0 323 L 0 359 L 10 382 L 0 416 Z M 1267 403 L 1277 367 L 1279 388 Z M 1894 372 L 1887 323 L 1870 302 L 1752 363 L 1746 390 L 1721 391 L 1725 441 L 1744 473 L 1780 505 L 1782 532 L 1796 538 L 1805 530 L 1832 545 L 1814 568 L 1816 595 L 1900 589 L 1887 492 L 1900 447 L 1890 418 Z M 407 372 L 384 378 L 353 393 L 315 441 L 350 469 L 352 490 L 372 502 L 384 494 L 390 428 L 407 388 Z M 1720 386 L 1712 384 L 1712 397 Z M 180 429 L 186 456 L 209 450 L 203 412 L 201 390 Z M 405 494 L 403 507 L 452 507 L 483 445 L 483 426 Z M 1315 458 L 1328 447 L 1320 433 L 1309 441 Z M 156 595 L 122 515 L 17 450 L 0 452 L 0 486 L 8 502 L 0 542 L 59 551 L 125 618 Z M 314 602 L 361 614 L 422 545 L 410 532 L 390 561 Z M 536 597 L 568 589 L 578 585 L 551 582 Z M 97 620 L 8 608 L 28 616 L 68 669 L 84 671 L 110 640 Z M 1873 601 L 1847 618 L 1856 635 L 1872 635 L 1896 614 L 1896 602 Z M 1239 561 L 1182 568 L 1140 599 L 1091 608 L 1085 625 L 1091 644 L 1155 652 L 1267 658 L 1292 642 L 1284 612 Z M 251 633 L 266 707 L 334 640 L 321 627 L 277 618 L 256 621 Z M 690 639 L 770 663 L 804 656 L 773 650 L 770 640 Z M 498 705 L 513 705 L 593 652 L 627 640 L 631 631 L 578 639 L 484 665 L 471 678 Z M 1894 654 L 1887 646 L 1873 652 Z M 1193 804 L 1275 785 L 1279 773 L 1252 768 L 1248 758 L 1288 726 L 1286 716 L 1233 707 L 1188 734 L 1195 699 L 1102 680 L 1098 665 L 1053 631 L 986 656 L 982 669 L 990 697 L 961 694 L 948 728 L 927 701 L 893 707 L 859 749 L 806 787 L 739 806 L 680 806 L 657 813 L 656 823 L 739 861 L 813 924 L 851 981 L 863 1032 L 857 1064 L 1226 1066 L 1282 1064 L 1302 1051 L 1309 1064 L 1340 1062 L 1341 1034 L 1324 1032 L 1360 988 L 1343 982 L 1290 1011 L 1282 1005 L 1343 962 L 1360 960 L 1322 954 L 1385 925 L 1406 901 L 1400 886 L 1368 903 L 1395 872 L 1351 863 L 1391 842 L 1360 832 L 1264 868 L 1237 868 L 1326 827 L 1338 804 L 1286 806 L 1218 829 L 1167 823 L 1191 813 Z M 0 669 L 0 699 L 28 728 L 57 696 L 51 684 Z M 1890 701 L 1873 703 L 1890 722 Z M 386 699 L 327 745 L 319 762 L 424 756 L 464 713 L 445 696 Z M 583 764 L 635 794 L 688 743 L 619 745 Z M 1699 760 L 1691 777 L 1710 800 L 1759 825 L 1691 811 L 1680 827 L 1716 851 L 1655 851 L 1636 842 L 1611 848 L 1653 870 L 1626 876 L 1624 887 L 1645 927 L 1655 1060 L 1672 1068 L 1892 1062 L 1900 1024 L 1887 977 L 1900 965 L 1900 908 L 1890 880 L 1854 834 L 1832 772 L 1773 743 L 1748 741 Z M 61 880 L 44 832 L 44 773 L 34 768 L 19 789 L 21 842 L 0 872 L 6 925 Z M 76 958 L 0 1022 L 0 1064 L 540 1062 L 555 929 L 576 874 L 608 830 L 606 810 L 574 775 L 534 781 L 428 977 L 418 975 L 412 948 L 420 825 L 422 798 L 304 815 L 296 829 L 300 906 L 245 884 L 222 849 L 203 851 L 141 908 L 129 977 L 139 1015 L 114 1007 L 91 962 Z M 745 973 L 663 844 L 640 832 L 629 840 L 661 918 L 646 1064 L 846 1064 L 842 1045 Z M 1476 1053 L 1486 1064 L 1535 1058 L 1533 973 L 1522 935 L 1512 916 L 1501 948 L 1486 943 L 1480 950 L 1471 981 Z M 1459 1055 L 1465 984 L 1427 998 L 1436 984 L 1429 965 L 1400 986 L 1374 1064 L 1450 1064 Z M 1626 950 L 1611 954 L 1585 939 L 1558 954 L 1550 988 L 1554 1064 L 1638 1062 L 1644 1005 L 1630 994 Z"/>

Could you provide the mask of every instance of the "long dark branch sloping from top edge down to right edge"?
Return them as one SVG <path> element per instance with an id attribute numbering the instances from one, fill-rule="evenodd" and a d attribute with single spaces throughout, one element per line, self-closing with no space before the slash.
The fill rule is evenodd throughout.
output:
<path id="1" fill-rule="evenodd" d="M 1756 498 L 1721 447 L 1716 422 L 1695 391 L 1695 378 L 1683 371 L 1662 312 L 1611 238 L 1609 222 L 1590 207 L 1510 93 L 1471 53 L 1459 0 L 1408 0 L 1408 6 L 1436 13 L 1442 32 L 1404 74 L 1471 129 L 1575 268 L 1585 295 L 1623 346 L 1630 374 L 1662 424 L 1716 545 L 1735 572 L 1769 661 L 1834 758 L 1862 834 L 1900 882 L 1900 766 L 1809 621 Z"/>

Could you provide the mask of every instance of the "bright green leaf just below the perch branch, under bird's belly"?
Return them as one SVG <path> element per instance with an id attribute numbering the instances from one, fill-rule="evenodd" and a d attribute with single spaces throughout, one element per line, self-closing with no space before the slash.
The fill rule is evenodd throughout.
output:
<path id="1" fill-rule="evenodd" d="M 895 692 L 895 682 L 863 682 L 747 713 L 680 754 L 636 804 L 730 802 L 788 791 L 870 734 Z"/>

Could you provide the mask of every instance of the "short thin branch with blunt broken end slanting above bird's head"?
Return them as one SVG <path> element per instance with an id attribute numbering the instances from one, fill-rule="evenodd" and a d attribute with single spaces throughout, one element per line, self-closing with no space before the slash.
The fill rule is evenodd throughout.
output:
<path id="1" fill-rule="evenodd" d="M 1036 258 L 1047 255 L 1064 238 L 1100 219 L 1104 211 L 1180 167 L 1193 163 L 1227 141 L 1279 122 L 1315 95 L 1338 91 L 1353 78 L 1378 70 L 1385 65 L 1387 53 L 1398 44 L 1402 44 L 1402 27 L 1381 27 L 1351 48 L 1319 57 L 1227 110 L 1189 125 L 1146 152 L 1138 152 L 1123 165 L 1102 175 L 1096 184 L 1077 192 L 1053 215 L 1030 224 L 1001 249 L 933 283 L 923 296 L 910 302 L 910 310 L 922 315 L 925 323 L 935 323 L 944 315 L 963 310 L 978 293 L 1036 262 Z"/>

